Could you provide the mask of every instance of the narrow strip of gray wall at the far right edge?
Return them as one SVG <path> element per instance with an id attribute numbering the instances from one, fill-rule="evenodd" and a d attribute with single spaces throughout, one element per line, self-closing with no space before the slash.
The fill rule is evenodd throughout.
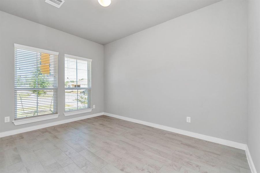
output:
<path id="1" fill-rule="evenodd" d="M 260 172 L 260 1 L 249 0 L 247 7 L 247 145 L 255 168 Z"/>

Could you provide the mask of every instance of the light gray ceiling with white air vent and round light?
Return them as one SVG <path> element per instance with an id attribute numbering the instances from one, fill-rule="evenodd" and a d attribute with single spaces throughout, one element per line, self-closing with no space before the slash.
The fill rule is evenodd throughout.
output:
<path id="1" fill-rule="evenodd" d="M 221 0 L 65 0 L 60 8 L 44 0 L 0 0 L 0 10 L 107 44 Z"/>

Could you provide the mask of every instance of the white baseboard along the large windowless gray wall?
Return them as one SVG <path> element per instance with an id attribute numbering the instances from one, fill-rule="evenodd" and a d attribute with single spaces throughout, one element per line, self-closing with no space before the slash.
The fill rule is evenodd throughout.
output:
<path id="1" fill-rule="evenodd" d="M 210 141 L 210 142 L 215 142 L 215 143 L 218 143 L 218 144 L 227 145 L 227 146 L 239 148 L 239 149 L 242 149 L 242 150 L 246 149 L 246 144 L 242 144 L 242 143 L 239 143 L 239 142 L 233 142 L 233 141 L 229 141 L 229 140 L 225 140 L 225 139 L 215 138 L 215 137 L 212 137 L 212 136 L 202 135 L 202 134 L 199 134 L 199 133 L 194 133 L 194 132 L 190 132 L 190 131 L 186 131 L 186 130 L 176 129 L 176 128 L 173 128 L 173 127 L 168 127 L 168 126 L 159 125 L 159 124 L 155 124 L 155 123 L 149 123 L 149 122 L 146 122 L 146 121 L 132 119 L 132 118 L 128 118 L 128 117 L 125 117 L 125 116 L 119 116 L 119 115 L 110 114 L 110 113 L 106 113 L 106 112 L 104 112 L 104 114 L 107 115 L 107 116 L 114 117 L 114 118 L 118 118 L 118 119 L 122 119 L 122 120 L 126 120 L 126 121 L 131 121 L 131 122 L 134 122 L 134 123 L 147 125 L 147 126 L 150 126 L 150 127 L 155 127 L 155 128 L 158 128 L 158 129 L 171 131 L 171 132 L 179 133 L 179 134 L 186 135 L 186 136 L 191 136 L 193 138 L 207 140 L 207 141 Z"/>

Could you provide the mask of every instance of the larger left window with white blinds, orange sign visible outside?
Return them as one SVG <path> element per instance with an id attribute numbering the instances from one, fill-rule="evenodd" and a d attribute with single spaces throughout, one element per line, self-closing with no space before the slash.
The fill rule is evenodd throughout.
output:
<path id="1" fill-rule="evenodd" d="M 57 113 L 58 52 L 14 46 L 15 119 Z"/>

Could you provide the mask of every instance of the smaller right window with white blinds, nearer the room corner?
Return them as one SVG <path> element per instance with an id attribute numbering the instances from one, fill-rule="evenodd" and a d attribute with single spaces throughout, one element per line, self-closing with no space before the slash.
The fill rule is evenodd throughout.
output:
<path id="1" fill-rule="evenodd" d="M 91 107 L 91 61 L 65 54 L 65 112 Z"/>

